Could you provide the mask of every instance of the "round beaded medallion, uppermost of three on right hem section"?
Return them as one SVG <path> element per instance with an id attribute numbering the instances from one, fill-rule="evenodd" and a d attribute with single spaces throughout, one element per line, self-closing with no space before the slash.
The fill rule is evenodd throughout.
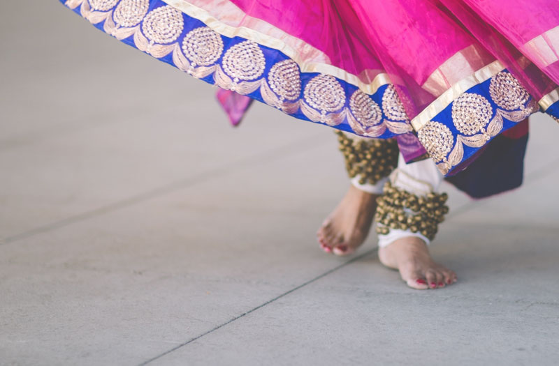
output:
<path id="1" fill-rule="evenodd" d="M 489 94 L 496 105 L 508 111 L 524 109 L 530 98 L 528 91 L 510 73 L 498 73 L 491 77 Z"/>

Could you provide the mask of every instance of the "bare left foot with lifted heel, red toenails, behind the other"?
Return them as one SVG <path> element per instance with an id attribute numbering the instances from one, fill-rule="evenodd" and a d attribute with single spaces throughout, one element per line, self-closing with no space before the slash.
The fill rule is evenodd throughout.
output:
<path id="1" fill-rule="evenodd" d="M 377 197 L 351 185 L 317 232 L 322 249 L 336 255 L 355 252 L 369 234 L 377 210 Z"/>

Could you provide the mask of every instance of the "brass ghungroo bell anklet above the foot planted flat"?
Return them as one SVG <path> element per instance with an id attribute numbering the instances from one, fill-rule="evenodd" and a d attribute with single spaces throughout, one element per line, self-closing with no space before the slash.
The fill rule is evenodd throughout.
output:
<path id="1" fill-rule="evenodd" d="M 432 241 L 437 234 L 438 225 L 449 212 L 449 207 L 445 205 L 447 199 L 446 193 L 413 195 L 393 187 L 388 181 L 384 185 L 382 195 L 377 197 L 377 234 L 389 234 L 391 229 L 409 229 L 412 233 L 419 232 Z"/>

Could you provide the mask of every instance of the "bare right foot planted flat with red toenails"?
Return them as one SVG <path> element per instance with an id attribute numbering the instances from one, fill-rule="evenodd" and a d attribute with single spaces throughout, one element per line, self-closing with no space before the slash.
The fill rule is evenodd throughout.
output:
<path id="1" fill-rule="evenodd" d="M 416 236 L 379 248 L 379 259 L 384 266 L 399 270 L 402 280 L 414 289 L 437 289 L 456 282 L 456 273 L 435 263 L 425 242 Z"/>

